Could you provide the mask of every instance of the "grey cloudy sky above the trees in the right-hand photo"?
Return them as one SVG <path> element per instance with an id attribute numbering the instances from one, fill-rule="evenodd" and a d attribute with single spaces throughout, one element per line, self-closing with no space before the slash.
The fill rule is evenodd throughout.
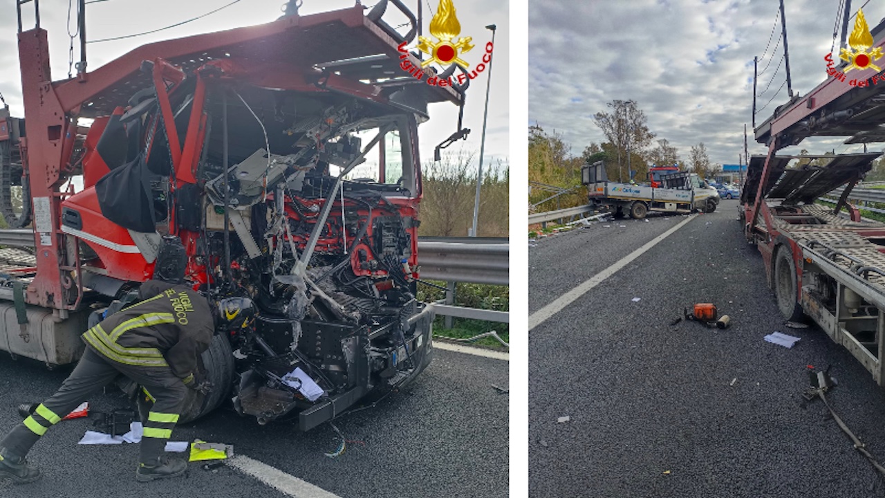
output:
<path id="1" fill-rule="evenodd" d="M 851 13 L 864 3 L 854 0 Z M 823 58 L 833 42 L 839 1 L 784 4 L 792 86 L 805 95 L 827 77 Z M 786 81 L 785 67 L 777 70 L 783 55 L 778 11 L 777 0 L 529 0 L 529 124 L 562 133 L 580 155 L 589 143 L 605 141 L 593 115 L 607 112 L 614 99 L 633 99 L 651 131 L 676 146 L 683 160 L 703 142 L 712 162 L 736 164 L 743 123 L 750 154 L 766 153 L 753 141 L 750 124 L 753 57 L 759 57 L 758 107 L 774 96 L 757 114 L 758 124 L 789 99 L 786 85 L 777 92 Z M 864 14 L 874 27 L 885 16 L 885 3 L 870 2 Z M 852 27 L 853 19 L 849 32 Z M 808 138 L 783 152 L 862 151 L 862 145 L 843 140 Z"/>

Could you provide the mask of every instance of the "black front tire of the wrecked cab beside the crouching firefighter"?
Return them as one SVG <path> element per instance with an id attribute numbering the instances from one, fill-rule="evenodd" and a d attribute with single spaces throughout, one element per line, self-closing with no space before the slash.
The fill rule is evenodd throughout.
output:
<path id="1" fill-rule="evenodd" d="M 184 405 L 181 408 L 179 423 L 187 423 L 208 415 L 217 409 L 222 401 L 229 397 L 234 383 L 234 353 L 230 342 L 221 334 L 212 337 L 209 349 L 202 356 L 202 372 L 206 380 L 212 383 L 212 393 L 208 396 L 188 390 Z"/>

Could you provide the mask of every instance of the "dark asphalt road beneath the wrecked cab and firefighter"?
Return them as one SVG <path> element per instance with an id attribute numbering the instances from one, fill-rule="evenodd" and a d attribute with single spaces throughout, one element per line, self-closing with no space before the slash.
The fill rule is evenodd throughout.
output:
<path id="1" fill-rule="evenodd" d="M 0 482 L 0 496 L 506 496 L 509 395 L 492 385 L 508 386 L 508 366 L 437 347 L 434 362 L 403 392 L 335 421 L 348 440 L 335 458 L 324 455 L 341 443 L 329 424 L 306 433 L 298 432 L 295 422 L 259 426 L 227 406 L 173 432 L 173 440 L 233 445 L 247 466 L 258 468 L 257 477 L 229 465 L 205 471 L 191 463 L 185 479 L 137 483 L 138 445 L 80 446 L 89 421 L 62 421 L 29 455 L 41 467 L 42 479 L 25 486 Z M 20 422 L 19 403 L 49 397 L 70 370 L 13 362 L 0 352 L 0 432 Z M 101 411 L 127 407 L 115 388 L 90 402 Z M 275 470 L 267 472 L 267 466 Z M 267 486 L 269 481 L 281 482 L 283 491 Z"/>

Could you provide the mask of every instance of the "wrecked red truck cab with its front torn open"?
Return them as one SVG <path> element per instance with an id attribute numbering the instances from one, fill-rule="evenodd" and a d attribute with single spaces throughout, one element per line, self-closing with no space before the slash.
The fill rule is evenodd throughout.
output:
<path id="1" fill-rule="evenodd" d="M 27 305 L 82 321 L 166 265 L 210 299 L 250 297 L 254 331 L 215 336 L 202 367 L 217 388 L 190 393 L 182 420 L 233 394 L 259 424 L 298 414 L 309 430 L 411 382 L 434 319 L 416 300 L 418 124 L 465 88 L 402 73 L 397 46 L 415 29 L 376 11 L 151 43 L 49 86 L 28 62 L 48 58 L 46 32 L 19 33 L 38 253 L 17 277 Z M 60 191 L 73 175 L 82 190 Z"/>

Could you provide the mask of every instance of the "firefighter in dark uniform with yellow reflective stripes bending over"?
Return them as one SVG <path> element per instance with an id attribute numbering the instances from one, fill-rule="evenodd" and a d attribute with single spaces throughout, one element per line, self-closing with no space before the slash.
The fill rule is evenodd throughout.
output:
<path id="1" fill-rule="evenodd" d="M 227 298 L 214 306 L 181 279 L 150 280 L 141 300 L 108 316 L 82 335 L 86 350 L 64 384 L 0 441 L 0 479 L 33 482 L 40 471 L 25 460 L 35 442 L 62 416 L 123 374 L 142 385 L 153 399 L 143 420 L 144 432 L 135 479 L 180 476 L 188 464 L 165 457 L 165 443 L 178 422 L 188 389 L 207 394 L 212 384 L 199 372 L 197 358 L 218 328 L 249 326 L 256 311 L 246 298 Z M 214 309 L 213 309 L 214 308 Z"/>

